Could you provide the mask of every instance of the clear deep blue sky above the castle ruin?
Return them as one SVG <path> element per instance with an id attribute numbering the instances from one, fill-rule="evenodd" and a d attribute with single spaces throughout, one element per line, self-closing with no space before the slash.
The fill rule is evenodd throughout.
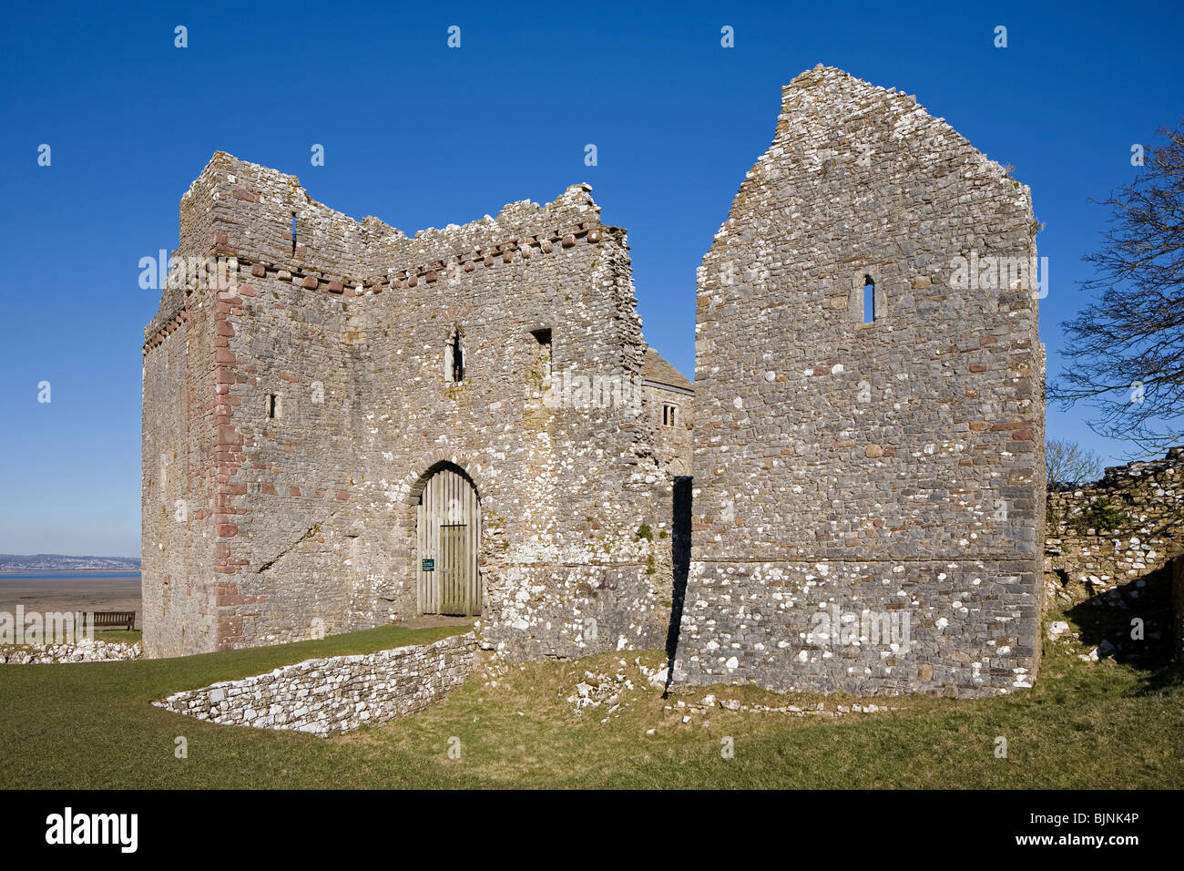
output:
<path id="1" fill-rule="evenodd" d="M 629 230 L 648 339 L 690 374 L 695 268 L 772 139 L 780 88 L 841 66 L 918 95 L 1031 185 L 1051 374 L 1107 219 L 1088 198 L 1128 181 L 1131 145 L 1184 113 L 1179 4 L 360 6 L 8 7 L 0 552 L 139 555 L 140 346 L 157 294 L 137 263 L 175 248 L 178 201 L 214 150 L 408 233 L 587 181 Z M 1082 418 L 1050 411 L 1050 437 L 1122 460 L 1130 447 Z"/>

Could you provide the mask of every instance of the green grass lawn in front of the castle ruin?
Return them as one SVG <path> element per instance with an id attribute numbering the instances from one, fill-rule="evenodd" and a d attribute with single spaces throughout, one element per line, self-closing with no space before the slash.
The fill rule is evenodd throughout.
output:
<path id="1" fill-rule="evenodd" d="M 1056 616 L 1054 619 L 1061 619 Z M 1184 670 L 1083 662 L 1049 643 L 1034 690 L 980 700 L 856 700 L 887 713 L 790 717 L 678 702 L 828 710 L 849 697 L 645 684 L 658 651 L 574 661 L 488 661 L 443 702 L 335 738 L 201 723 L 149 703 L 170 692 L 310 657 L 423 643 L 466 627 L 382 627 L 284 647 L 168 660 L 0 666 L 0 782 L 6 787 L 811 787 L 1182 788 Z M 624 662 L 624 665 L 622 664 Z M 585 670 L 633 683 L 620 706 L 577 713 Z M 601 722 L 605 721 L 606 722 Z M 652 735 L 648 735 L 654 730 Z M 188 741 L 175 758 L 174 739 Z M 1006 758 L 995 755 L 1008 739 Z M 449 757 L 458 738 L 459 758 Z M 731 738 L 734 756 L 721 748 Z M 455 744 L 455 742 L 452 742 Z"/>

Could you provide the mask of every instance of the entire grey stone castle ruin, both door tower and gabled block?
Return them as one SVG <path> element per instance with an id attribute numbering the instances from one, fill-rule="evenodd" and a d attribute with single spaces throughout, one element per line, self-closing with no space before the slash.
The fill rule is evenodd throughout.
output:
<path id="1" fill-rule="evenodd" d="M 516 657 L 669 638 L 693 683 L 1030 685 L 1029 190 L 803 73 L 700 269 L 694 385 L 590 190 L 407 237 L 214 155 L 144 331 L 148 653 L 465 614 Z"/>

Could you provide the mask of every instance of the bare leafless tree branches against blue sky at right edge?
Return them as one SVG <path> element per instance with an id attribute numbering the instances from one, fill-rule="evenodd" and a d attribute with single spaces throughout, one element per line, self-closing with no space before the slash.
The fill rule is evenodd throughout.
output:
<path id="1" fill-rule="evenodd" d="M 1062 406 L 1094 408 L 1095 433 L 1145 451 L 1184 436 L 1184 119 L 1157 134 L 1135 180 L 1103 200 L 1113 216 L 1082 282 L 1100 295 L 1062 324 L 1069 365 L 1049 386 Z"/>

